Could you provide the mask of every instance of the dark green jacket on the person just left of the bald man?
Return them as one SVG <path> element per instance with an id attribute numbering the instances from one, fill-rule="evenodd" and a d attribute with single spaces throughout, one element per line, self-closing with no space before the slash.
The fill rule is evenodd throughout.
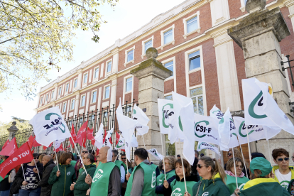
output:
<path id="1" fill-rule="evenodd" d="M 92 163 L 91 165 L 85 165 L 85 168 L 87 170 L 87 173 L 93 178 L 96 165 Z M 75 184 L 74 189 L 74 195 L 75 196 L 86 196 L 87 190 L 89 189 L 89 185 L 85 183 L 86 178 L 86 172 L 84 169 L 82 169 L 82 172 L 79 175 L 79 178 L 77 178 L 77 182 Z"/>

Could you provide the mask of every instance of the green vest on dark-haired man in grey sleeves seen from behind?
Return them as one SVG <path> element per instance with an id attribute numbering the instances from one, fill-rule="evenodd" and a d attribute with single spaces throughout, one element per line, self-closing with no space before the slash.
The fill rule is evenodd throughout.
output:
<path id="1" fill-rule="evenodd" d="M 128 184 L 126 185 L 126 196 L 131 195 L 131 188 L 133 185 L 133 178 L 136 170 L 138 168 L 142 168 L 144 171 L 144 185 L 141 196 L 156 196 L 156 171 L 151 167 L 151 165 L 147 165 L 146 163 L 141 162 L 138 166 L 134 168 L 133 173 L 129 178 Z"/>

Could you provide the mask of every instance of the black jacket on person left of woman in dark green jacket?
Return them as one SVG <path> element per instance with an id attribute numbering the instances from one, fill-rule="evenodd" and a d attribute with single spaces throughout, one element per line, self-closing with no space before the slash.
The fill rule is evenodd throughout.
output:
<path id="1" fill-rule="evenodd" d="M 52 160 L 49 160 L 48 163 L 44 166 L 43 178 L 38 182 L 38 187 L 41 187 L 40 196 L 50 196 L 52 185 L 48 184 L 48 179 L 50 177 L 50 173 L 55 167 L 55 163 Z"/>

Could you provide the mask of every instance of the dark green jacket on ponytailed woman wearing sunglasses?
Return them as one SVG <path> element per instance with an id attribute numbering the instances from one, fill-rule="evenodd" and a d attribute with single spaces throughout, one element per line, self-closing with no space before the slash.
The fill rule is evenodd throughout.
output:
<path id="1" fill-rule="evenodd" d="M 201 182 L 201 185 L 200 185 Z M 198 181 L 192 188 L 193 195 L 197 194 L 198 186 L 200 185 L 200 189 L 198 195 L 205 196 L 230 196 L 229 188 L 222 182 L 222 178 L 220 178 L 219 173 L 214 175 L 214 181 L 212 179 L 209 180 L 200 180 Z"/>

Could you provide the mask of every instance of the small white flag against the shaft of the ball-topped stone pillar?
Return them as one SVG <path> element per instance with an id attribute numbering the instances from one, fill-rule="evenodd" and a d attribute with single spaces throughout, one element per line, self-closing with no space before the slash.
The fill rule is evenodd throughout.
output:
<path id="1" fill-rule="evenodd" d="M 147 134 L 149 131 L 149 126 L 147 126 L 149 118 L 141 108 L 137 107 L 136 104 L 134 105 L 133 109 L 133 119 L 138 122 L 136 125 L 137 133 L 141 136 L 143 136 L 143 134 Z"/>

